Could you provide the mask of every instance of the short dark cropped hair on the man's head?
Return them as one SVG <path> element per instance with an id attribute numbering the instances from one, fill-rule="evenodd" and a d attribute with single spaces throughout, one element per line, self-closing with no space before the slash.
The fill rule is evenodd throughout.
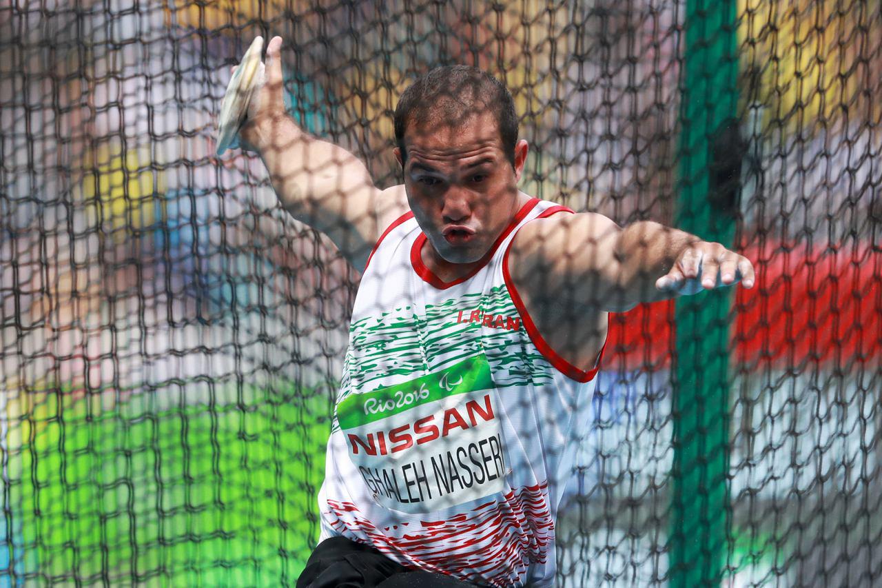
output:
<path id="1" fill-rule="evenodd" d="M 483 110 L 490 110 L 496 117 L 505 156 L 513 167 L 518 115 L 512 94 L 489 73 L 468 65 L 436 67 L 401 94 L 395 108 L 395 140 L 402 160 L 407 158 L 404 133 L 408 124 L 448 122 L 456 125 Z"/>

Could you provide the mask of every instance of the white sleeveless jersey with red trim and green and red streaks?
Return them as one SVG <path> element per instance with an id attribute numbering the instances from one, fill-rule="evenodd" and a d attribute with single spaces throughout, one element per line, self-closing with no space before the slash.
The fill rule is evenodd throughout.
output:
<path id="1" fill-rule="evenodd" d="M 476 584 L 553 583 L 557 508 L 596 367 L 542 340 L 507 253 L 525 223 L 568 213 L 530 200 L 486 263 L 452 283 L 423 265 L 413 213 L 380 237 L 355 298 L 321 539 Z"/>

